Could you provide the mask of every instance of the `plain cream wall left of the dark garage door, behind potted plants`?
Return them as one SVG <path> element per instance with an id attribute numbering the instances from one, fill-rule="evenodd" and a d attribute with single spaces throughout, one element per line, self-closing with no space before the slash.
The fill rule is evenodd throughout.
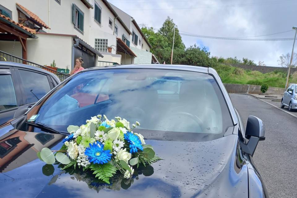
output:
<path id="1" fill-rule="evenodd" d="M 56 67 L 71 69 L 71 36 L 37 34 L 38 39 L 28 39 L 28 61 L 50 65 L 55 60 Z M 63 46 L 63 47 L 61 47 Z"/>

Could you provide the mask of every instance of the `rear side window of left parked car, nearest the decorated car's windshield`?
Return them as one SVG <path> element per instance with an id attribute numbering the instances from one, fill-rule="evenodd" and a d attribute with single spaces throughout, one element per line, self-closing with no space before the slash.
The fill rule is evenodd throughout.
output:
<path id="1" fill-rule="evenodd" d="M 19 70 L 19 73 L 28 104 L 37 102 L 50 91 L 49 80 L 46 75 L 26 70 Z"/>

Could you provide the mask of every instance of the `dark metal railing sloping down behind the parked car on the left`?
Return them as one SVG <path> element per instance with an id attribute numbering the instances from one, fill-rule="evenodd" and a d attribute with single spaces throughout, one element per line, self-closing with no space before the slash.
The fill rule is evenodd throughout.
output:
<path id="1" fill-rule="evenodd" d="M 52 72 L 53 74 L 57 75 L 58 78 L 59 78 L 61 81 L 67 79 L 67 78 L 70 76 L 70 75 L 61 73 L 61 72 L 59 72 L 59 71 L 56 71 L 56 70 L 47 68 L 47 67 L 45 67 L 45 66 L 39 65 L 39 64 L 37 64 L 37 63 L 28 61 L 28 60 L 26 60 L 26 59 L 19 58 L 19 57 L 17 57 L 17 56 L 12 55 L 12 54 L 8 54 L 8 53 L 3 52 L 3 51 L 1 51 L 1 50 L 0 50 L 0 61 L 10 61 L 10 62 L 16 62 L 16 63 L 22 63 L 22 64 L 26 64 L 26 65 L 31 65 L 31 66 L 34 66 L 34 67 L 39 67 L 39 68 L 45 69 L 45 70 L 47 70 L 47 71 L 49 71 L 49 72 Z"/>

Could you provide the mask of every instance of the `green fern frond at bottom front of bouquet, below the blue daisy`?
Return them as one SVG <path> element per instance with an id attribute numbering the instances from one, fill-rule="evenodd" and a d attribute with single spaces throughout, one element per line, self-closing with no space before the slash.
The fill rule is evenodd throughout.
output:
<path id="1" fill-rule="evenodd" d="M 95 177 L 101 179 L 102 181 L 110 184 L 109 179 L 116 173 L 117 168 L 112 164 L 93 164 L 91 166 L 93 174 L 96 174 Z"/>

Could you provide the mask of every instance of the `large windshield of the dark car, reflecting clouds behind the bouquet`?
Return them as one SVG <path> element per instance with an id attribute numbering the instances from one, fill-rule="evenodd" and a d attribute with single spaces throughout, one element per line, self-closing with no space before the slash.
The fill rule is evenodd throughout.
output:
<path id="1" fill-rule="evenodd" d="M 80 126 L 98 114 L 138 121 L 138 130 L 216 138 L 233 125 L 212 76 L 164 69 L 101 69 L 75 75 L 33 107 L 28 121 L 67 131 L 69 125 Z"/>

